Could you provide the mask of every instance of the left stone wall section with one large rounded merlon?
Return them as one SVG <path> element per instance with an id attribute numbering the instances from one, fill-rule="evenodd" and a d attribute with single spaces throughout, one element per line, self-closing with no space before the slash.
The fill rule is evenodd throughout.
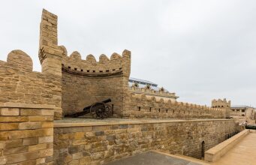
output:
<path id="1" fill-rule="evenodd" d="M 0 61 L 0 104 L 52 105 L 54 117 L 62 118 L 61 78 L 33 71 L 32 58 L 16 49 Z"/>

